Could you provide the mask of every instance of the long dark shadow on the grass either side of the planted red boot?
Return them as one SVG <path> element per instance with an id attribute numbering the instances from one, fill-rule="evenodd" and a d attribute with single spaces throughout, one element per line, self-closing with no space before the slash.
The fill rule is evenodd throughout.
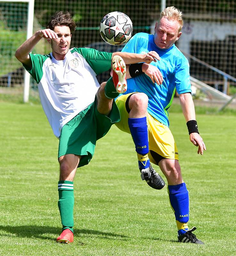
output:
<path id="1" fill-rule="evenodd" d="M 40 239 L 45 239 L 45 240 L 51 240 L 55 241 L 56 237 L 60 235 L 61 229 L 59 228 L 54 228 L 54 227 L 49 227 L 49 226 L 0 226 L 0 231 L 6 231 L 10 233 L 9 235 L 13 236 L 19 236 L 19 237 L 36 237 Z M 55 238 L 52 238 L 48 234 L 55 234 Z M 90 230 L 90 229 L 75 229 L 74 230 L 75 236 L 79 237 L 84 234 L 89 234 L 89 235 L 97 235 L 97 236 L 103 236 L 102 238 L 105 239 L 121 239 L 124 240 L 124 238 L 127 238 L 127 236 L 124 235 L 119 235 L 115 233 L 110 233 L 110 232 L 102 232 L 98 230 Z M 8 235 L 1 235 L 0 236 L 8 236 Z"/>

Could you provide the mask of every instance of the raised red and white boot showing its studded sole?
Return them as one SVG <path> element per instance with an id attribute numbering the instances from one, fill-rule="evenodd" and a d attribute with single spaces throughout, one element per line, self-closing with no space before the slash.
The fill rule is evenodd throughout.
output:
<path id="1" fill-rule="evenodd" d="M 124 93 L 127 91 L 127 82 L 126 82 L 126 67 L 124 60 L 119 56 L 115 55 L 112 58 L 112 69 L 113 69 L 113 83 L 116 89 L 116 92 Z"/>

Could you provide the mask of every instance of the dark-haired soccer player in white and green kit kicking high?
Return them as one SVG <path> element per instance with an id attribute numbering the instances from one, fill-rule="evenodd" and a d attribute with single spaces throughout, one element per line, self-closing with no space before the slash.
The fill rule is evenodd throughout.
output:
<path id="1" fill-rule="evenodd" d="M 46 29 L 35 32 L 16 51 L 16 58 L 33 76 L 43 110 L 53 133 L 59 138 L 58 207 L 62 233 L 60 243 L 74 240 L 73 180 L 77 167 L 90 162 L 96 141 L 120 120 L 114 98 L 126 91 L 126 66 L 150 63 L 156 53 L 100 52 L 90 48 L 70 49 L 75 22 L 71 14 L 56 12 Z M 31 54 L 45 38 L 52 48 L 47 55 Z M 113 77 L 99 85 L 96 75 L 109 70 Z"/>

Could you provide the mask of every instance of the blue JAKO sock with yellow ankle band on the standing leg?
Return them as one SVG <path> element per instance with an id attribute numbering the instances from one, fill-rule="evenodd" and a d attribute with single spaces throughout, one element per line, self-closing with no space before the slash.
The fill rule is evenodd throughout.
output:
<path id="1" fill-rule="evenodd" d="M 188 231 L 189 196 L 185 183 L 168 186 L 169 201 L 175 213 L 178 234 L 183 235 Z"/>

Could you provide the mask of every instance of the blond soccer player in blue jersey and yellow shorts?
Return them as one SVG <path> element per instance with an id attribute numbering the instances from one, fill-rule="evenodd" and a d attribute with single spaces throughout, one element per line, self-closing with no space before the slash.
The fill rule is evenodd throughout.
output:
<path id="1" fill-rule="evenodd" d="M 177 91 L 187 122 L 190 141 L 198 147 L 198 154 L 202 155 L 203 150 L 206 150 L 199 135 L 195 117 L 189 63 L 175 46 L 175 42 L 181 36 L 182 27 L 182 12 L 173 6 L 167 7 L 161 12 L 160 19 L 155 25 L 154 35 L 138 33 L 125 45 L 122 52 L 155 51 L 159 54 L 160 60 L 152 62 L 151 65 L 139 63 L 129 66 L 132 78 L 127 80 L 126 94 L 116 100 L 121 113 L 121 121 L 116 125 L 122 131 L 132 135 L 142 179 L 152 178 L 150 161 L 158 164 L 165 175 L 170 204 L 178 228 L 178 241 L 203 244 L 192 233 L 196 228 L 188 228 L 189 195 L 181 175 L 177 146 L 169 130 L 168 108 Z M 161 71 L 162 84 L 156 82 L 158 79 L 154 72 L 155 68 Z M 149 69 L 149 76 L 140 75 L 145 70 L 147 73 L 147 69 Z M 147 126 L 148 137 L 145 132 Z"/>

